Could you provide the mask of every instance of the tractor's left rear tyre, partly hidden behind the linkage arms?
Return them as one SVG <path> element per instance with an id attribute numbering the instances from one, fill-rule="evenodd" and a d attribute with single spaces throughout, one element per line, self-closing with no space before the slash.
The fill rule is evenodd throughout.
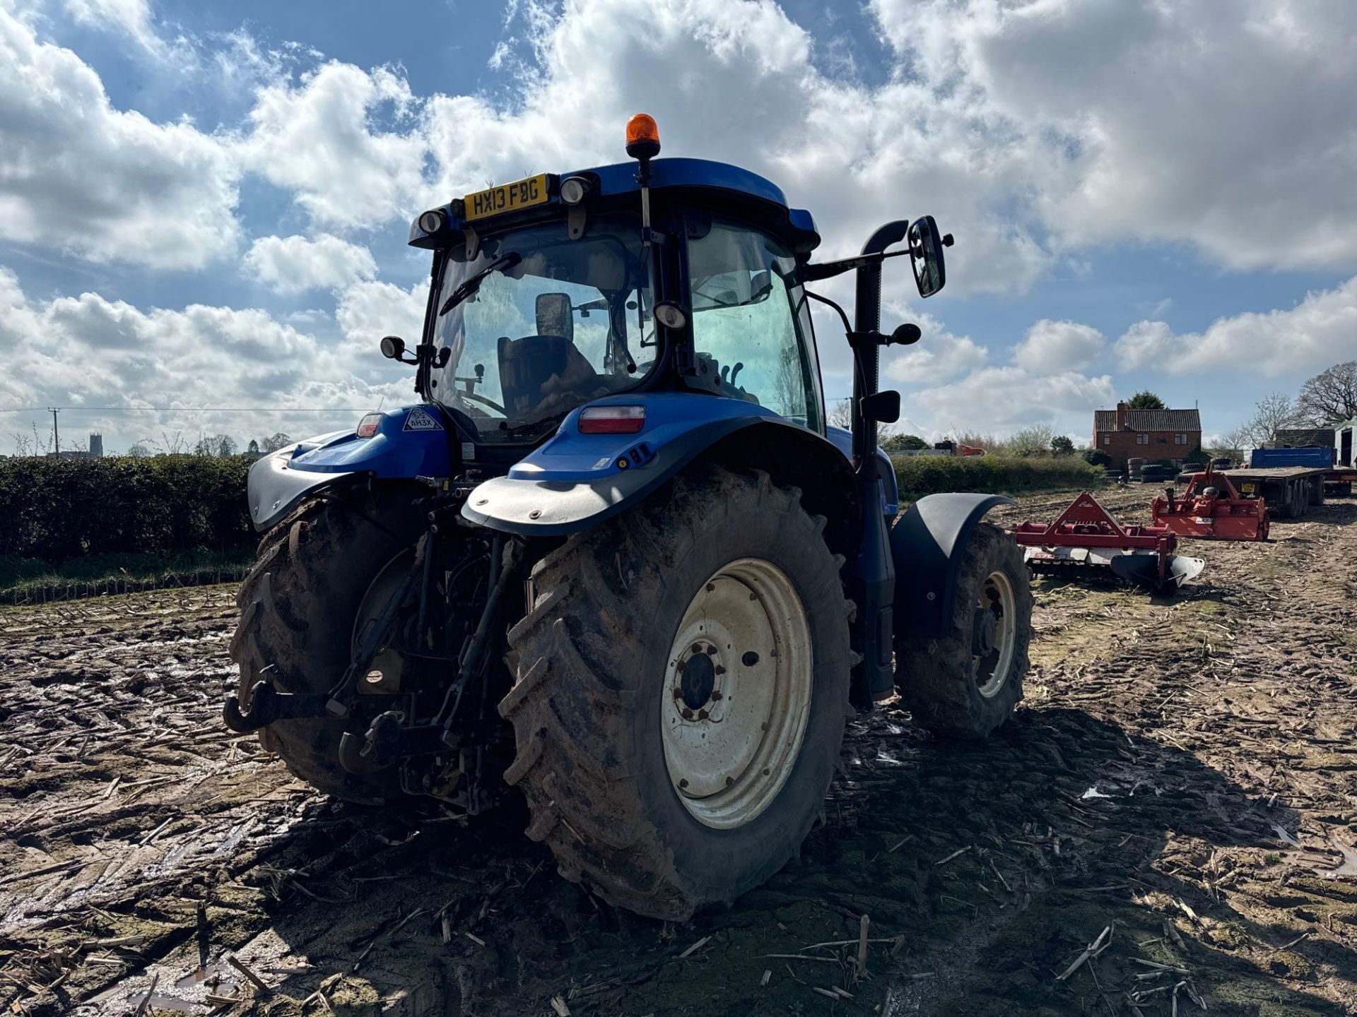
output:
<path id="1" fill-rule="evenodd" d="M 231 659 L 240 667 L 242 706 L 265 678 L 292 693 L 328 692 L 339 681 L 369 586 L 422 532 L 411 502 L 399 490 L 351 502 L 318 499 L 269 530 L 236 594 L 240 621 Z M 259 731 L 259 742 L 293 774 L 335 797 L 364 804 L 399 797 L 395 767 L 357 777 L 339 765 L 339 739 L 350 723 L 278 720 Z"/>

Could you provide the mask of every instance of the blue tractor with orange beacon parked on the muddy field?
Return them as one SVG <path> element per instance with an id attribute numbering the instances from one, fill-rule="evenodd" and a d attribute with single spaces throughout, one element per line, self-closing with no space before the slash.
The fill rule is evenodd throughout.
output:
<path id="1" fill-rule="evenodd" d="M 235 731 L 341 799 L 527 799 L 560 875 L 669 919 L 775 873 L 854 709 L 898 694 L 939 735 L 1012 713 L 1031 595 L 981 517 L 897 517 L 877 427 L 881 275 L 944 282 L 931 217 L 813 262 L 814 221 L 733 165 L 632 161 L 421 214 L 419 403 L 267 456 L 266 533 L 231 644 Z M 892 245 L 902 247 L 892 251 Z M 854 320 L 807 289 L 856 277 Z M 829 427 L 810 301 L 843 320 L 852 430 Z"/>

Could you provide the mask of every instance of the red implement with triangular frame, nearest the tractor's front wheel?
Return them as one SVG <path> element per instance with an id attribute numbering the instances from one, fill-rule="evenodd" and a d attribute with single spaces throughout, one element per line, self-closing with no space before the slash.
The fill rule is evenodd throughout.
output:
<path id="1" fill-rule="evenodd" d="M 1019 523 L 1012 533 L 1035 571 L 1107 565 L 1121 579 L 1153 590 L 1177 589 L 1206 564 L 1175 555 L 1178 537 L 1166 526 L 1122 526 L 1087 491 L 1054 522 Z"/>

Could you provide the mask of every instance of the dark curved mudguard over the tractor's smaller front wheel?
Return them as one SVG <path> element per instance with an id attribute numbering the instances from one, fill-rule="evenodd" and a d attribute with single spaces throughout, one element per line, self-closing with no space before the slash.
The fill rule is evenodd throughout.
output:
<path id="1" fill-rule="evenodd" d="M 991 509 L 1016 504 L 1003 495 L 928 495 L 890 532 L 896 564 L 896 636 L 947 635 L 957 572 L 976 525 Z"/>

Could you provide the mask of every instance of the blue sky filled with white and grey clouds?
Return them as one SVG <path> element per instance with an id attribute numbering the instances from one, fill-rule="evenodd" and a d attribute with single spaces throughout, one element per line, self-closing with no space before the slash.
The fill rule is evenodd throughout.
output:
<path id="1" fill-rule="evenodd" d="M 1148 388 L 1209 439 L 1357 358 L 1354 53 L 1352 0 L 0 0 L 0 453 L 46 407 L 125 452 L 414 401 L 410 220 L 620 161 L 641 110 L 820 258 L 955 236 L 927 302 L 886 267 L 902 430 L 1086 443 Z"/>

